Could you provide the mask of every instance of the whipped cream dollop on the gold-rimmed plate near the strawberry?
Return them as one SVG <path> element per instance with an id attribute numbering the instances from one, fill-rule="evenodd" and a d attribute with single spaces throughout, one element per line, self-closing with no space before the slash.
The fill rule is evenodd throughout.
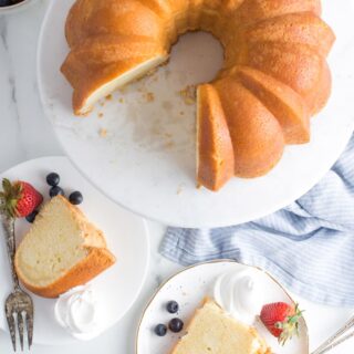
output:
<path id="1" fill-rule="evenodd" d="M 221 274 L 214 285 L 215 301 L 235 319 L 253 324 L 263 305 L 256 270 Z"/>

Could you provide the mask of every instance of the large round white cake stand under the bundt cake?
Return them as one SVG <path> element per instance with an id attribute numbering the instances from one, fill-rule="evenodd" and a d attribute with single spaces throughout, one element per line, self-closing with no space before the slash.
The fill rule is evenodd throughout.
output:
<path id="1" fill-rule="evenodd" d="M 352 0 L 341 0 L 340 7 L 323 1 L 324 19 L 337 35 L 330 56 L 333 94 L 312 121 L 311 144 L 287 147 L 270 174 L 235 178 L 217 194 L 196 188 L 195 107 L 177 92 L 214 77 L 222 62 L 220 45 L 211 35 L 187 34 L 157 74 L 97 104 L 88 117 L 77 118 L 71 108 L 72 88 L 59 71 L 67 54 L 64 21 L 73 2 L 52 1 L 42 27 L 38 80 L 43 106 L 71 160 L 98 189 L 134 212 L 180 227 L 220 227 L 260 218 L 314 186 L 352 135 Z M 147 102 L 148 92 L 155 95 L 153 102 Z M 107 129 L 106 137 L 100 136 L 102 128 Z"/>

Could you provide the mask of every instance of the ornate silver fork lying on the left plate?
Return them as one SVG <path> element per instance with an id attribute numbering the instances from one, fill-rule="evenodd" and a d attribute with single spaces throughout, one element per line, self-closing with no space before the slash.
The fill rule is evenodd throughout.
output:
<path id="1" fill-rule="evenodd" d="M 23 334 L 24 323 L 28 334 L 29 350 L 33 340 L 33 302 L 31 296 L 25 293 L 19 283 L 19 278 L 14 269 L 14 253 L 15 253 L 15 239 L 14 239 L 14 218 L 9 218 L 6 215 L 1 215 L 1 221 L 3 233 L 6 236 L 6 242 L 8 248 L 8 254 L 11 267 L 11 275 L 13 282 L 13 292 L 8 296 L 4 311 L 8 320 L 9 331 L 11 335 L 13 351 L 17 350 L 17 327 L 19 330 L 21 351 L 23 352 Z"/>

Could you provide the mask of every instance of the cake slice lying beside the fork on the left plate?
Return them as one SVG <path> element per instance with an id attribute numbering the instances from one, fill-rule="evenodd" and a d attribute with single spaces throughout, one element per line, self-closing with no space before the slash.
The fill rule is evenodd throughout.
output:
<path id="1" fill-rule="evenodd" d="M 33 293 L 58 298 L 114 264 L 104 235 L 64 197 L 52 198 L 37 216 L 15 253 L 15 270 Z"/>

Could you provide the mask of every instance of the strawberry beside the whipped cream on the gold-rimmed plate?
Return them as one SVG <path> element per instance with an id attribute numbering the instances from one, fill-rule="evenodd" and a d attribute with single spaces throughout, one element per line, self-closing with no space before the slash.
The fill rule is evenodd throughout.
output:
<path id="1" fill-rule="evenodd" d="M 299 320 L 302 311 L 299 305 L 289 305 L 285 302 L 269 303 L 263 306 L 260 319 L 268 331 L 284 345 L 292 336 L 299 335 Z"/>

